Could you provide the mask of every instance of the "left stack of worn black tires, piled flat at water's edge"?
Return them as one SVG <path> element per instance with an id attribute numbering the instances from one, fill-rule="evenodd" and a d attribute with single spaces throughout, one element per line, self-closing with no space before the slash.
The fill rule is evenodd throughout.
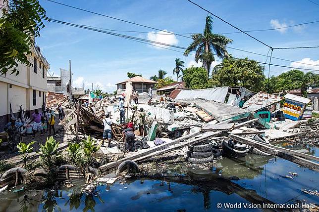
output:
<path id="1" fill-rule="evenodd" d="M 209 163 L 219 157 L 220 151 L 214 149 L 211 143 L 189 145 L 188 150 L 184 154 L 185 161 L 196 164 Z"/>

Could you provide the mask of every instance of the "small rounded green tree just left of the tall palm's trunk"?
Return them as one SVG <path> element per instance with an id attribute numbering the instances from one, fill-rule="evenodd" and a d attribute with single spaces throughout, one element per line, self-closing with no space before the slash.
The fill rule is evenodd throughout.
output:
<path id="1" fill-rule="evenodd" d="M 190 67 L 183 71 L 185 86 L 191 89 L 208 87 L 207 70 L 202 67 Z"/>

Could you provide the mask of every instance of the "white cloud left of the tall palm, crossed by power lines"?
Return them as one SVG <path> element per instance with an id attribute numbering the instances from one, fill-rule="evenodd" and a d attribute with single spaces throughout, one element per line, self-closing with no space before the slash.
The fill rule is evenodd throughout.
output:
<path id="1" fill-rule="evenodd" d="M 165 32 L 163 32 L 165 31 Z M 175 35 L 170 34 L 173 32 L 168 32 L 167 30 L 163 30 L 163 31 L 159 31 L 159 32 L 149 32 L 147 34 L 147 39 L 150 41 L 155 41 L 155 42 L 162 42 L 162 43 L 166 43 L 166 44 L 170 44 L 170 45 L 175 45 L 178 43 L 178 40 L 176 38 Z M 159 46 L 163 46 L 165 47 L 165 45 L 161 45 L 161 44 L 156 44 L 156 43 L 152 43 L 154 45 L 156 45 L 156 48 L 160 48 Z"/>

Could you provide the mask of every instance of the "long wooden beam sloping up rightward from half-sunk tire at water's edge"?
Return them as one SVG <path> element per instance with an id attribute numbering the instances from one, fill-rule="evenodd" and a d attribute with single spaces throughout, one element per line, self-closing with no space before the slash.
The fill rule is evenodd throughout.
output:
<path id="1" fill-rule="evenodd" d="M 145 152 L 140 152 L 140 153 L 137 153 L 137 154 L 134 154 L 134 155 L 131 155 L 131 156 L 128 156 L 128 157 L 125 157 L 125 158 L 122 158 L 118 161 L 114 161 L 114 162 L 110 162 L 108 164 L 105 164 L 101 167 L 99 167 L 100 170 L 102 171 L 105 171 L 105 170 L 108 170 L 110 168 L 113 168 L 115 166 L 118 166 L 120 163 L 122 163 L 123 161 L 126 161 L 126 160 L 134 160 L 136 158 L 140 158 L 142 156 L 145 156 L 145 155 L 149 155 L 153 152 L 157 152 L 157 151 L 160 151 L 162 149 L 165 149 L 169 146 L 172 146 L 174 144 L 177 144 L 179 143 L 181 140 L 184 140 L 184 139 L 188 139 L 188 138 L 192 138 L 192 137 L 195 137 L 197 135 L 201 134 L 201 132 L 194 132 L 194 133 L 191 133 L 191 134 L 188 134 L 188 135 L 185 135 L 185 136 L 182 136 L 180 138 L 177 138 L 175 140 L 173 140 L 172 142 L 169 142 L 169 143 L 166 143 L 166 144 L 162 144 L 162 145 L 159 145 L 157 147 L 154 147 L 154 148 L 151 148 Z"/>

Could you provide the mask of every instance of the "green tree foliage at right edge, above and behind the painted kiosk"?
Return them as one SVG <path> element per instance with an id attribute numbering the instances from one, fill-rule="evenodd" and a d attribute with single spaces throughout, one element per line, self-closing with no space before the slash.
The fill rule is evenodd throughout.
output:
<path id="1" fill-rule="evenodd" d="M 313 72 L 304 73 L 296 69 L 292 69 L 276 77 L 272 76 L 266 81 L 268 92 L 301 89 L 302 94 L 305 95 L 307 88 L 312 85 L 319 85 L 319 75 Z"/>

